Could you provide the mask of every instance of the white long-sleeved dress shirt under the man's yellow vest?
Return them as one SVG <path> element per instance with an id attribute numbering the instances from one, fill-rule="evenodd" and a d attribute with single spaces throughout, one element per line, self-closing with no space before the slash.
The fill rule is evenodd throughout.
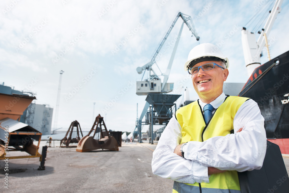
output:
<path id="1" fill-rule="evenodd" d="M 215 108 L 213 113 L 225 98 L 222 93 L 210 103 Z M 199 104 L 203 110 L 206 103 L 199 100 Z M 234 134 L 203 142 L 189 141 L 183 158 L 174 153 L 181 142 L 182 128 L 173 115 L 153 152 L 153 174 L 181 183 L 209 183 L 208 167 L 238 172 L 260 169 L 266 153 L 266 133 L 264 118 L 255 101 L 250 99 L 240 106 L 233 126 Z M 240 128 L 242 131 L 236 133 Z"/>

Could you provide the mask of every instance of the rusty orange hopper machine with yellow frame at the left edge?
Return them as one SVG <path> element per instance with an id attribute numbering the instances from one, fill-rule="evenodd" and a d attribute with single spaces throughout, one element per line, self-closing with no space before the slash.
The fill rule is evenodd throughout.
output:
<path id="1" fill-rule="evenodd" d="M 38 170 L 45 170 L 47 146 L 42 148 L 42 155 L 38 153 L 42 133 L 19 122 L 23 111 L 34 99 L 27 95 L 0 93 L 0 160 L 39 157 Z M 38 141 L 38 144 L 34 145 L 33 141 Z M 29 155 L 11 155 L 13 151 L 24 151 Z"/>

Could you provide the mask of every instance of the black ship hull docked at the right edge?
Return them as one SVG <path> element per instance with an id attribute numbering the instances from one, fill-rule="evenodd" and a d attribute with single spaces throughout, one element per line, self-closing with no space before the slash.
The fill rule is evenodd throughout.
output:
<path id="1" fill-rule="evenodd" d="M 258 103 L 267 138 L 289 138 L 289 51 L 256 68 L 239 96 Z"/>

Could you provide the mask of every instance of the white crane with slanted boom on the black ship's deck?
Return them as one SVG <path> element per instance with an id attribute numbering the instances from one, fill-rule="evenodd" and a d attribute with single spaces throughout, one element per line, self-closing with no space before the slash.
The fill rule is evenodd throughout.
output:
<path id="1" fill-rule="evenodd" d="M 268 50 L 268 43 L 266 36 L 269 35 L 277 14 L 281 11 L 281 5 L 283 0 L 277 0 L 270 11 L 269 17 L 265 23 L 265 26 L 258 33 L 260 34 L 257 42 L 254 32 L 249 32 L 246 26 L 242 29 L 242 46 L 245 58 L 245 64 L 248 72 L 248 76 L 251 76 L 253 71 L 261 65 L 260 57 L 262 56 L 262 49 L 266 44 L 268 51 L 268 58 L 270 60 L 270 54 Z"/>

